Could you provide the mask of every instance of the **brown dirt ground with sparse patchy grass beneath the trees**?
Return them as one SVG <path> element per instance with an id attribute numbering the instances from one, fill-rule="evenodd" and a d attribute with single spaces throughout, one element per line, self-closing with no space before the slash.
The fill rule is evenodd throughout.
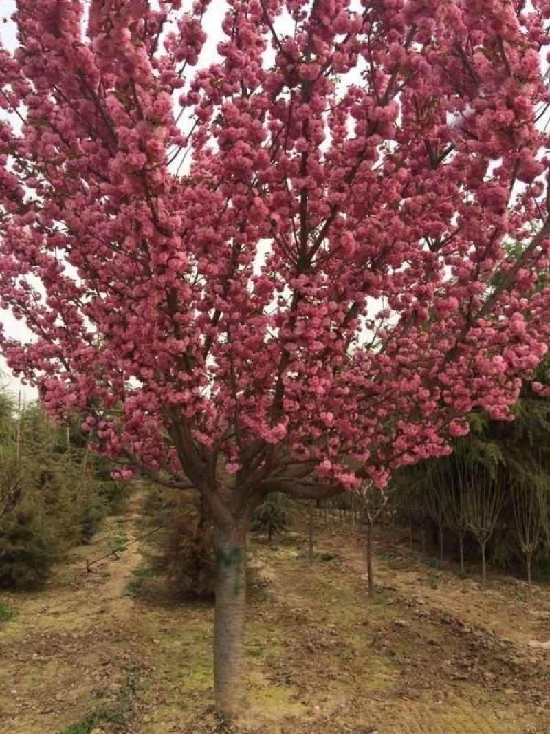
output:
<path id="1" fill-rule="evenodd" d="M 318 518 L 250 544 L 247 705 L 241 734 L 550 733 L 550 588 L 489 588 L 378 534 L 367 596 L 360 539 Z M 207 734 L 213 612 L 151 575 L 131 540 L 139 497 L 45 589 L 1 594 L 2 734 Z M 550 647 L 550 645 L 548 646 Z"/>

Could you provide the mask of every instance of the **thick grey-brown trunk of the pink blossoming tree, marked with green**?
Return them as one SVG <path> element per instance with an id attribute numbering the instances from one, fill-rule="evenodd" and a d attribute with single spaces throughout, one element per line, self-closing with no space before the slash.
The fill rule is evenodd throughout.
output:
<path id="1" fill-rule="evenodd" d="M 216 709 L 226 720 L 240 710 L 244 691 L 246 531 L 246 521 L 215 528 L 214 691 Z"/>

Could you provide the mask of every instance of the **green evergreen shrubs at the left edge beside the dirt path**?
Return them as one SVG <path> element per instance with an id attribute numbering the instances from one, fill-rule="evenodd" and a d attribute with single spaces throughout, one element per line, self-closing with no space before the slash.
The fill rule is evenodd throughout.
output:
<path id="1" fill-rule="evenodd" d="M 0 391 L 0 586 L 39 584 L 70 548 L 89 542 L 127 487 L 89 453 L 74 426 L 40 404 L 15 415 Z"/>

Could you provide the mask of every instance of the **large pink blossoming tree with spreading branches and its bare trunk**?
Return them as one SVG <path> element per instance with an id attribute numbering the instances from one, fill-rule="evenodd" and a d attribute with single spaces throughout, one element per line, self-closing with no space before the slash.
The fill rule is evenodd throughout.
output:
<path id="1" fill-rule="evenodd" d="M 208 0 L 17 6 L 1 353 L 202 493 L 230 714 L 252 509 L 446 454 L 546 352 L 550 2 L 230 0 L 217 46 Z"/>

